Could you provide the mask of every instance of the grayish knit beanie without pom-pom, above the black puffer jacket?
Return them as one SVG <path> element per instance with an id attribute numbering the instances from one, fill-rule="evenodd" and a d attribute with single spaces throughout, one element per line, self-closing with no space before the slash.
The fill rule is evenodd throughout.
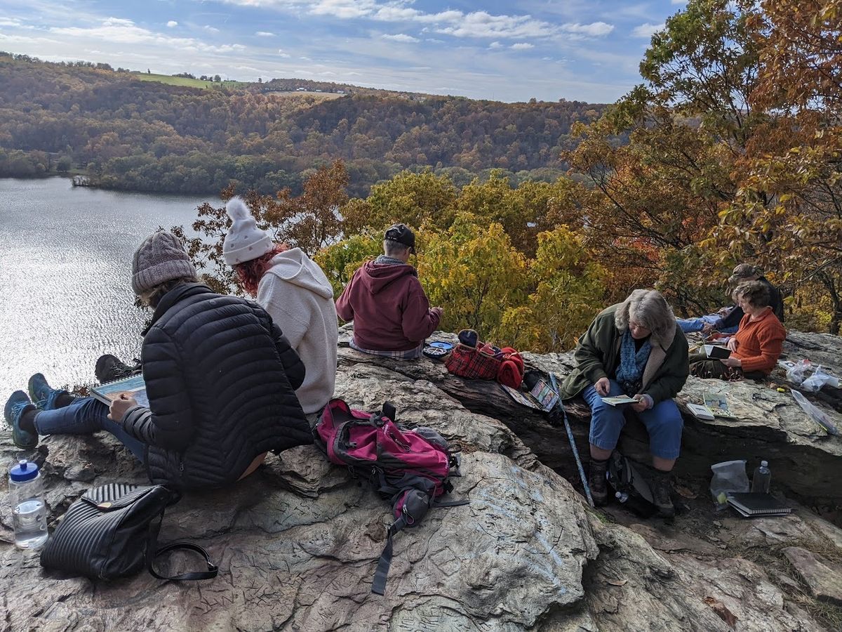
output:
<path id="1" fill-rule="evenodd" d="M 173 233 L 166 230 L 152 233 L 135 250 L 131 262 L 131 289 L 137 295 L 182 276 L 196 278 L 196 269 L 181 240 Z"/>

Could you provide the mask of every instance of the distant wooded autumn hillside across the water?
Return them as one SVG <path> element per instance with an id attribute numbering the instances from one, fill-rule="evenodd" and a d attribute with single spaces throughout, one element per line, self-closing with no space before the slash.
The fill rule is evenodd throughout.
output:
<path id="1" fill-rule="evenodd" d="M 564 169 L 562 151 L 576 145 L 571 126 L 604 110 L 367 88 L 337 99 L 280 93 L 297 84 L 290 81 L 198 89 L 141 81 L 104 64 L 3 53 L 0 176 L 75 165 L 115 189 L 218 193 L 233 183 L 300 192 L 312 169 L 343 158 L 352 195 L 424 167 L 461 184 L 487 169 L 549 180 Z M 317 89 L 335 89 L 329 85 Z"/>

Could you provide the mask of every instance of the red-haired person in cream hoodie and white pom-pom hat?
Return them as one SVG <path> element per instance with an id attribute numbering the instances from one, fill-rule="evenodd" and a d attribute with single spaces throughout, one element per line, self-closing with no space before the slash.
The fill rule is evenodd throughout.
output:
<path id="1" fill-rule="evenodd" d="M 307 419 L 315 423 L 336 383 L 338 320 L 333 287 L 301 249 L 275 244 L 258 228 L 241 198 L 232 197 L 226 212 L 232 219 L 222 244 L 226 264 L 304 362 L 306 375 L 296 395 Z"/>

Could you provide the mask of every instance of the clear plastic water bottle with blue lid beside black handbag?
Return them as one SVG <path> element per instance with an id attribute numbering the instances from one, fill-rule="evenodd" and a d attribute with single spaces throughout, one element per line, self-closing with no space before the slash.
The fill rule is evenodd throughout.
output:
<path id="1" fill-rule="evenodd" d="M 44 481 L 38 466 L 21 459 L 8 473 L 8 496 L 12 504 L 14 544 L 19 549 L 38 549 L 47 541 Z"/>

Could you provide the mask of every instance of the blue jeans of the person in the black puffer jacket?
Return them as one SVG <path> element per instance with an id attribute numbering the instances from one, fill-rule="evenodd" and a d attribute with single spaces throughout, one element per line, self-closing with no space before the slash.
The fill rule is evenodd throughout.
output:
<path id="1" fill-rule="evenodd" d="M 108 406 L 93 397 L 77 398 L 72 404 L 56 410 L 41 410 L 35 415 L 35 431 L 39 435 L 89 435 L 109 431 L 129 451 L 146 463 L 147 444 L 132 437 L 123 426 L 108 418 Z"/>

